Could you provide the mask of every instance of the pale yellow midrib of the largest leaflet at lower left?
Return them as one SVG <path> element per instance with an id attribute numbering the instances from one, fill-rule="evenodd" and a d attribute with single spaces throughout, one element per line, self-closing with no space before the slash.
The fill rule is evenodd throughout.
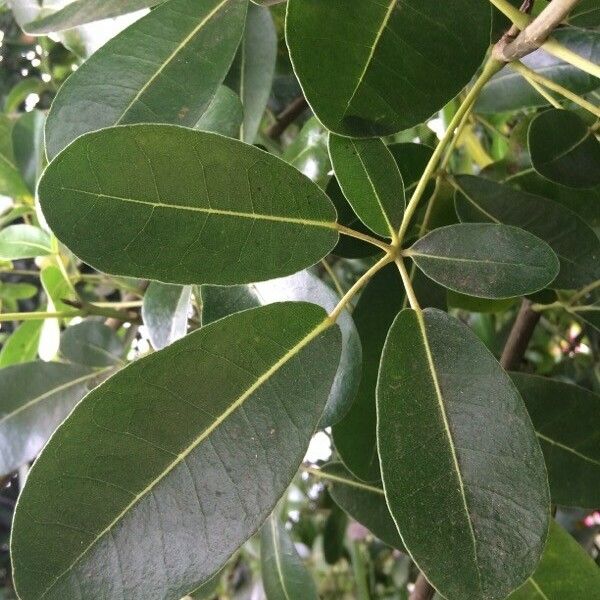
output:
<path id="1" fill-rule="evenodd" d="M 279 369 L 281 369 L 289 360 L 291 360 L 296 354 L 298 354 L 303 348 L 310 344 L 316 337 L 327 330 L 334 324 L 334 321 L 327 316 L 321 323 L 319 323 L 310 333 L 304 336 L 295 346 L 290 348 L 279 360 L 277 360 L 269 369 L 267 369 L 256 381 L 240 394 L 229 407 L 217 417 L 213 423 L 208 426 L 200 435 L 193 440 L 188 447 L 180 452 L 175 459 L 167 465 L 165 469 L 159 475 L 154 478 L 143 490 L 136 494 L 129 502 L 129 504 L 98 534 L 94 539 L 77 555 L 77 557 L 71 562 L 71 564 L 59 573 L 54 581 L 42 592 L 40 600 L 45 598 L 48 592 L 50 592 L 54 586 L 66 575 L 69 571 L 79 563 L 79 561 L 100 541 L 106 534 L 110 533 L 115 525 L 121 521 L 122 518 L 145 496 L 151 493 L 154 488 L 167 476 L 173 469 L 179 464 L 185 461 L 185 459 L 213 432 L 219 427 L 232 413 L 240 408 L 244 402 L 258 389 L 261 385 L 266 383 L 271 376 L 273 376 Z"/>

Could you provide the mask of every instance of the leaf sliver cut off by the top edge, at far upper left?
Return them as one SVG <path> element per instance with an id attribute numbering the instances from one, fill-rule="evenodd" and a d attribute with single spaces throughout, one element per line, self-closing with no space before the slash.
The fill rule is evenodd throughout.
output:
<path id="1" fill-rule="evenodd" d="M 53 31 L 61 31 L 63 29 L 71 29 L 108 19 L 125 15 L 142 8 L 148 8 L 160 4 L 163 0 L 74 0 L 61 10 L 36 19 L 31 23 L 23 26 L 27 33 L 40 35 L 44 33 L 52 33 Z"/>

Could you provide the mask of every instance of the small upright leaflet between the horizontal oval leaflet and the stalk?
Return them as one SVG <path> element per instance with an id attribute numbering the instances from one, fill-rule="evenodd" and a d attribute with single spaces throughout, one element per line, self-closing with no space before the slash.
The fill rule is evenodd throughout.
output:
<path id="1" fill-rule="evenodd" d="M 329 136 L 337 180 L 360 220 L 374 233 L 395 238 L 404 214 L 404 183 L 394 157 L 380 139 Z"/>

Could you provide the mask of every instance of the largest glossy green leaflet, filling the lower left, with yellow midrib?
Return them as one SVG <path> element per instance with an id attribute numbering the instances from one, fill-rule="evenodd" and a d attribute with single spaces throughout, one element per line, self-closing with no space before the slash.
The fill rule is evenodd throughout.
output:
<path id="1" fill-rule="evenodd" d="M 271 304 L 203 327 L 90 393 L 19 499 L 20 598 L 179 600 L 208 580 L 294 477 L 340 346 L 322 308 Z"/>

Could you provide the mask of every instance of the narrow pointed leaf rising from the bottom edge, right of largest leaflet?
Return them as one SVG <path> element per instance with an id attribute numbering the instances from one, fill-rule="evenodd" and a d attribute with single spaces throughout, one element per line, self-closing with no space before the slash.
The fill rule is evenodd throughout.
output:
<path id="1" fill-rule="evenodd" d="M 276 516 L 261 531 L 260 565 L 267 600 L 318 600 L 315 582 Z"/>

